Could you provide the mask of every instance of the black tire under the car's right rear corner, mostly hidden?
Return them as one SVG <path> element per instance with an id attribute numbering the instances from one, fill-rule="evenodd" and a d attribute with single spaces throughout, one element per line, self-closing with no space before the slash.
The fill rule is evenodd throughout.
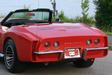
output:
<path id="1" fill-rule="evenodd" d="M 78 59 L 76 61 L 74 61 L 74 65 L 77 68 L 88 68 L 91 67 L 94 63 L 95 59 L 88 59 L 88 60 L 84 60 L 84 59 Z"/>

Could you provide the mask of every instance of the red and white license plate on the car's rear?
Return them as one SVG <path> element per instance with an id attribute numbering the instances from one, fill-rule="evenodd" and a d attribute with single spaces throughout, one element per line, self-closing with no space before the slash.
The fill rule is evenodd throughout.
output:
<path id="1" fill-rule="evenodd" d="M 80 50 L 79 49 L 66 49 L 64 53 L 65 59 L 69 58 L 80 58 Z"/>

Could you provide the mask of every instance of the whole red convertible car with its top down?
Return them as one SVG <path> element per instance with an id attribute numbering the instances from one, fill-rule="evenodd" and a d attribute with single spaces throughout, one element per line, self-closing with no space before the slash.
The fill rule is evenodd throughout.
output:
<path id="1" fill-rule="evenodd" d="M 70 61 L 90 67 L 108 54 L 107 44 L 107 36 L 95 27 L 54 23 L 50 9 L 12 11 L 0 25 L 0 57 L 11 73 L 22 71 L 23 62 Z"/>

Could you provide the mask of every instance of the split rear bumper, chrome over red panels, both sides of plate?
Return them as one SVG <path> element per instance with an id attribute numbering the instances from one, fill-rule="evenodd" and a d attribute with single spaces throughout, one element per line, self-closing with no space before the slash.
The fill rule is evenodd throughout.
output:
<path id="1" fill-rule="evenodd" d="M 84 52 L 81 53 L 81 58 L 85 58 L 85 59 L 101 58 L 106 56 L 107 53 L 108 53 L 108 47 L 85 48 Z M 33 52 L 33 62 L 56 62 L 61 60 L 65 60 L 64 50 Z"/>

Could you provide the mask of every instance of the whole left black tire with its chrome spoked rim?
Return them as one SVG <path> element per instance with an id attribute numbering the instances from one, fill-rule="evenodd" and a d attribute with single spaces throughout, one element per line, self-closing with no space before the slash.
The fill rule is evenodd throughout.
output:
<path id="1" fill-rule="evenodd" d="M 6 69 L 11 73 L 24 71 L 24 65 L 18 60 L 16 46 L 11 39 L 8 39 L 4 46 L 4 64 Z"/>

